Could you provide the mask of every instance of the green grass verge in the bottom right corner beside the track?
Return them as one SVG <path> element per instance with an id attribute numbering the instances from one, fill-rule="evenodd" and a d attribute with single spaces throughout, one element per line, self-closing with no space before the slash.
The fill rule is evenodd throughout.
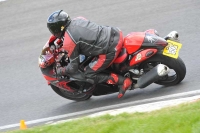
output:
<path id="1" fill-rule="evenodd" d="M 83 118 L 9 133 L 200 133 L 200 101 L 149 113 Z"/>

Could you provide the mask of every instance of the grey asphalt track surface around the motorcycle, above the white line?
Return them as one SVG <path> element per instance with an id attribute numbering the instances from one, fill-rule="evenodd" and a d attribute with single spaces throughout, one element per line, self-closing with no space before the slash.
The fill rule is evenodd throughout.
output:
<path id="1" fill-rule="evenodd" d="M 156 29 L 160 36 L 180 34 L 180 57 L 187 74 L 177 86 L 152 84 L 143 90 L 74 102 L 51 90 L 41 75 L 38 56 L 50 36 L 47 17 L 63 9 L 71 18 L 84 16 L 102 25 L 119 27 L 124 35 Z M 199 0 L 7 0 L 0 2 L 0 126 L 117 105 L 200 88 Z"/>

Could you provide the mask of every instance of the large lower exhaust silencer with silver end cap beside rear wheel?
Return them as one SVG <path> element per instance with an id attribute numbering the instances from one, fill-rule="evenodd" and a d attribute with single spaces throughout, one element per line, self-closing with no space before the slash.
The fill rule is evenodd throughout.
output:
<path id="1" fill-rule="evenodd" d="M 158 64 L 146 74 L 142 75 L 133 88 L 145 88 L 148 85 L 157 81 L 160 77 L 169 73 L 169 68 L 166 65 Z"/>

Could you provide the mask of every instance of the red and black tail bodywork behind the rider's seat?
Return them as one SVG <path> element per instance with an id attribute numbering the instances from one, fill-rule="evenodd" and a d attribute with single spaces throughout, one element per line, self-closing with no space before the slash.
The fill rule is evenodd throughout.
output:
<path id="1" fill-rule="evenodd" d="M 124 48 L 114 61 L 113 67 L 124 74 L 163 50 L 167 44 L 167 41 L 159 37 L 153 29 L 145 32 L 132 32 L 124 38 Z"/>

